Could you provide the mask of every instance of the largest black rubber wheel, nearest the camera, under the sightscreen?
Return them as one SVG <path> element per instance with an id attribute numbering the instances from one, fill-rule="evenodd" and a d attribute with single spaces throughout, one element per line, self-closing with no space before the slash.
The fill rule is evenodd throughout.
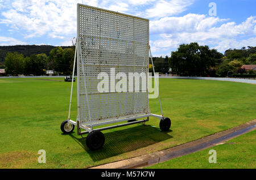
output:
<path id="1" fill-rule="evenodd" d="M 92 151 L 102 148 L 104 143 L 105 136 L 101 131 L 92 131 L 86 137 L 86 145 Z"/>

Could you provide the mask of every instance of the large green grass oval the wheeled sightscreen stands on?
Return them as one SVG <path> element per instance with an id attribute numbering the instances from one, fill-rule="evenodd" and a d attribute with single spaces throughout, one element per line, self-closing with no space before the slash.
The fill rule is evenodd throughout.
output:
<path id="1" fill-rule="evenodd" d="M 168 132 L 159 120 L 103 131 L 105 145 L 89 151 L 85 139 L 63 135 L 71 83 L 64 78 L 0 79 L 0 168 L 88 168 L 170 148 L 255 119 L 256 86 L 214 80 L 159 79 Z M 76 119 L 76 83 L 71 118 Z M 158 99 L 151 113 L 160 114 Z M 46 164 L 38 151 L 46 151 Z"/>

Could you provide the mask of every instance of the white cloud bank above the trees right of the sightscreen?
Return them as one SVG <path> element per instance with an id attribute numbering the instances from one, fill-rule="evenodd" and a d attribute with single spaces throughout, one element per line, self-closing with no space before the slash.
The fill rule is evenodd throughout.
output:
<path id="1" fill-rule="evenodd" d="M 193 18 L 188 18 L 193 17 Z M 192 19 L 192 20 L 190 20 Z M 169 21 L 175 24 L 175 28 L 166 25 L 166 29 L 159 29 L 160 25 L 156 25 L 156 32 L 164 32 L 160 34 L 160 38 L 152 42 L 154 51 L 176 49 L 180 44 L 188 44 L 190 42 L 199 42 L 201 45 L 209 45 L 217 48 L 220 52 L 224 52 L 229 48 L 242 48 L 242 46 L 256 46 L 255 38 L 247 38 L 247 36 L 255 36 L 254 27 L 256 24 L 256 16 L 251 16 L 242 22 L 236 24 L 228 22 L 215 27 L 218 22 L 225 19 L 206 17 L 204 15 L 188 14 L 179 18 L 160 19 L 159 22 L 166 23 Z M 185 25 L 187 24 L 187 25 Z M 152 27 L 154 29 L 154 27 Z M 237 40 L 242 37 L 245 40 Z"/>

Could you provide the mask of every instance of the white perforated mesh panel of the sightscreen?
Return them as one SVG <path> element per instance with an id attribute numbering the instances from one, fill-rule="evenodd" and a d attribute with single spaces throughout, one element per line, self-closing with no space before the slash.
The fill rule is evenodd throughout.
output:
<path id="1" fill-rule="evenodd" d="M 147 75 L 148 25 L 148 19 L 77 5 L 77 38 L 81 42 L 82 54 L 82 58 L 78 55 L 77 79 L 82 123 L 149 113 L 147 91 L 100 93 L 97 89 L 101 81 L 97 79 L 98 74 L 106 72 L 110 76 L 110 68 L 115 68 L 115 74 L 124 72 L 127 75 L 127 90 L 129 72 L 144 72 Z M 115 80 L 116 83 L 118 81 Z"/>

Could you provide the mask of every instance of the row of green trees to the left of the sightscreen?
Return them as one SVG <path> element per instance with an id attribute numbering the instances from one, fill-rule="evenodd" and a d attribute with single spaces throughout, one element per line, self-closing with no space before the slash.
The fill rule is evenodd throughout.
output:
<path id="1" fill-rule="evenodd" d="M 9 52 L 5 57 L 6 74 L 17 75 L 46 75 L 46 70 L 53 70 L 60 75 L 69 75 L 72 72 L 75 47 L 53 48 L 49 55 L 45 53 L 32 54 L 24 57 L 17 52 Z"/>

